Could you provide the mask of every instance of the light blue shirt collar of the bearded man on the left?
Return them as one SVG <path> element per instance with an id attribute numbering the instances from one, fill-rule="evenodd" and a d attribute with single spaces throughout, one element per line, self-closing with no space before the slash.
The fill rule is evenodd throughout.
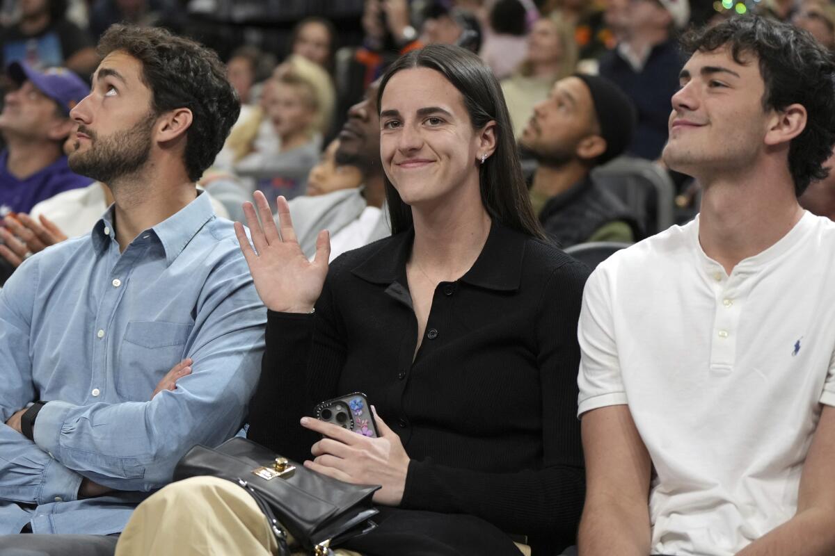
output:
<path id="1" fill-rule="evenodd" d="M 211 207 L 209 196 L 198 192 L 194 201 L 169 218 L 165 218 L 162 222 L 140 233 L 138 238 L 151 235 L 159 239 L 159 243 L 165 250 L 165 263 L 170 265 L 180 256 L 191 238 L 194 238 L 200 228 L 203 228 L 211 218 L 215 218 L 215 211 Z M 113 221 L 114 205 L 110 205 L 93 228 L 93 243 L 99 250 L 107 248 L 109 242 L 116 238 Z"/>

